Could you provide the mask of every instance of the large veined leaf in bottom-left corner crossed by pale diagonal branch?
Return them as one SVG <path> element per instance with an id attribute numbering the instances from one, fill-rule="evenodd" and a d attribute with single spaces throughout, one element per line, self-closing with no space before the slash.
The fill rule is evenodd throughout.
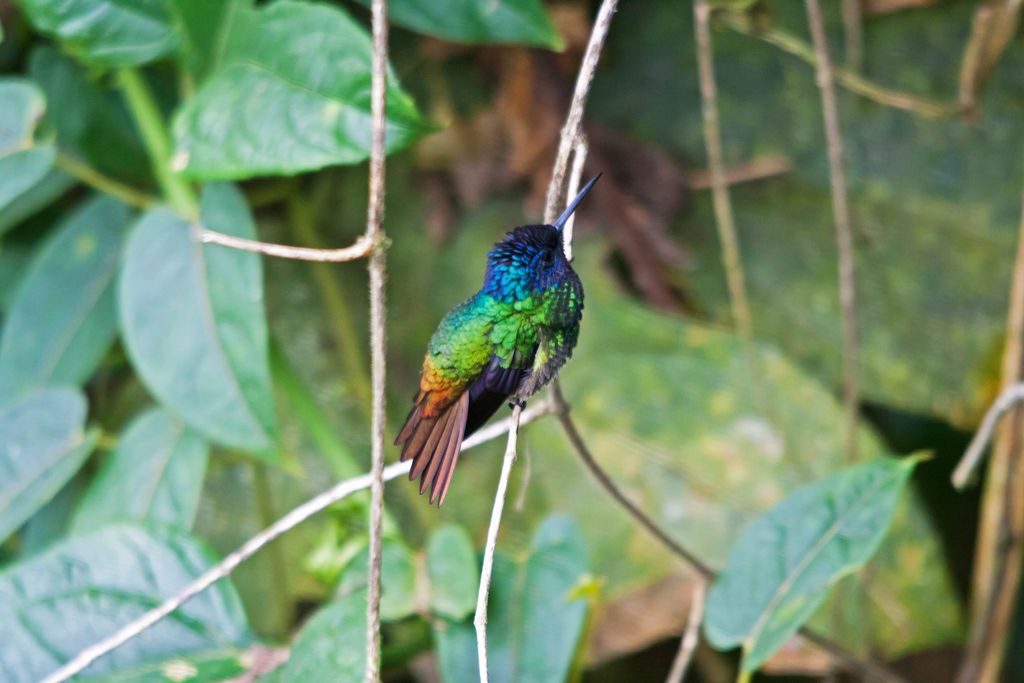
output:
<path id="1" fill-rule="evenodd" d="M 213 558 L 171 528 L 109 526 L 73 537 L 0 573 L 0 671 L 38 681 L 208 569 Z M 110 675 L 172 655 L 244 647 L 251 639 L 228 581 L 215 586 L 85 670 Z"/>

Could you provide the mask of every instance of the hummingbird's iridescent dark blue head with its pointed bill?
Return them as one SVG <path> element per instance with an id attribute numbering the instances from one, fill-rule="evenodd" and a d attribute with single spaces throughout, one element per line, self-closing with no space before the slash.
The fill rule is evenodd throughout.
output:
<path id="1" fill-rule="evenodd" d="M 569 276 L 572 266 L 562 247 L 562 228 L 599 177 L 600 174 L 580 190 L 553 224 L 521 225 L 495 245 L 487 254 L 487 271 L 483 279 L 485 294 L 499 301 L 521 301 Z"/>

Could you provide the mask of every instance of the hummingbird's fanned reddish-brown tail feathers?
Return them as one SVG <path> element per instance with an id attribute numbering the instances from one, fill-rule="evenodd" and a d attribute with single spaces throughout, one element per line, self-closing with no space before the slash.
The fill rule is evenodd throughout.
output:
<path id="1" fill-rule="evenodd" d="M 437 507 L 444 502 L 455 465 L 459 462 L 462 439 L 469 415 L 469 392 L 444 409 L 437 417 L 425 417 L 423 404 L 413 409 L 406 426 L 394 440 L 401 445 L 401 460 L 412 460 L 410 481 L 420 477 L 420 493 L 430 486 L 430 503 Z"/>

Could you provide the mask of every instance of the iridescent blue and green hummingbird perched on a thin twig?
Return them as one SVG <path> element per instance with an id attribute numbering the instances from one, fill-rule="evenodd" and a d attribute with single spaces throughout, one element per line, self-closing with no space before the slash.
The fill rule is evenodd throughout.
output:
<path id="1" fill-rule="evenodd" d="M 410 480 L 430 503 L 447 495 L 462 440 L 502 403 L 525 405 L 572 355 L 583 284 L 562 228 L 598 173 L 551 225 L 521 225 L 487 254 L 483 287 L 441 319 L 423 359 L 420 390 L 394 440 L 412 460 Z"/>

